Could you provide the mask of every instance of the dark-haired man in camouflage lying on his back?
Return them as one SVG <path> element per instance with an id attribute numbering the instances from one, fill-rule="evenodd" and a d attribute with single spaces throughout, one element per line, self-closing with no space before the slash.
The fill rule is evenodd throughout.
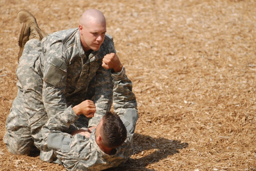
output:
<path id="1" fill-rule="evenodd" d="M 76 130 L 71 133 L 72 136 L 64 132 L 79 116 L 69 107 L 69 111 L 52 116 L 42 128 L 44 140 L 41 150 L 53 151 L 53 162 L 63 164 L 68 171 L 116 167 L 132 154 L 133 133 L 138 120 L 136 98 L 125 68 L 118 74 L 112 74 L 112 77 L 114 113 L 118 115 L 106 113 L 96 129 Z M 44 160 L 42 156 L 40 159 Z"/>

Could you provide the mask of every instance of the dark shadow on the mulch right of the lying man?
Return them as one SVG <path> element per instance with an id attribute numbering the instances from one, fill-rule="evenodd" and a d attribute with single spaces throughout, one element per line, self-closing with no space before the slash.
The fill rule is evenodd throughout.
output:
<path id="1" fill-rule="evenodd" d="M 106 171 L 119 171 L 119 170 L 146 170 L 152 171 L 153 169 L 147 169 L 145 166 L 159 162 L 162 159 L 167 158 L 167 156 L 179 153 L 178 149 L 183 149 L 188 146 L 187 143 L 181 143 L 178 140 L 169 140 L 166 138 L 153 138 L 151 136 L 137 134 L 133 136 L 133 148 L 134 155 L 139 155 L 137 159 L 129 158 L 128 161 L 122 166 L 117 168 L 110 168 Z M 147 154 L 146 151 L 154 150 L 151 154 Z"/>

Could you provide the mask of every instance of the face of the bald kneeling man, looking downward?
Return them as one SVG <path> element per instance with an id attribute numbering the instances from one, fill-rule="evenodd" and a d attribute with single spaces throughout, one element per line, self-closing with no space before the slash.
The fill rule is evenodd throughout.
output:
<path id="1" fill-rule="evenodd" d="M 105 39 L 106 26 L 106 23 L 97 22 L 90 22 L 88 26 L 79 26 L 81 42 L 85 52 L 90 49 L 99 50 Z"/>

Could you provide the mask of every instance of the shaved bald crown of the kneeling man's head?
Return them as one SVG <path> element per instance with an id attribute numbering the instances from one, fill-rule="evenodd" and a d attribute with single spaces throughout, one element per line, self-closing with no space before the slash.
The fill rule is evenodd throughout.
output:
<path id="1" fill-rule="evenodd" d="M 90 26 L 92 23 L 107 25 L 106 19 L 101 11 L 97 9 L 88 9 L 81 16 L 80 25 L 87 27 Z"/>

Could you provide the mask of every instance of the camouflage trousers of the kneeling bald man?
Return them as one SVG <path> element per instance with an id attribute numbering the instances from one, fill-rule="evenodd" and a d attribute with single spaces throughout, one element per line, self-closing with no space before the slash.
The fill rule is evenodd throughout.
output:
<path id="1" fill-rule="evenodd" d="M 48 121 L 48 114 L 44 108 L 42 100 L 42 73 L 40 72 L 40 41 L 31 40 L 30 46 L 34 48 L 24 48 L 20 58 L 16 75 L 18 78 L 18 93 L 12 103 L 10 114 L 6 120 L 6 134 L 3 138 L 7 149 L 12 154 L 27 155 L 31 151 L 33 144 L 40 150 L 42 142 L 41 128 Z M 33 49 L 33 50 L 27 50 Z M 28 80 L 32 80 L 29 81 Z M 89 89 L 90 94 L 94 94 L 93 86 Z M 93 100 L 94 95 L 86 99 Z M 76 102 L 77 103 L 77 102 Z M 69 104 L 74 104 L 69 101 Z M 89 119 L 81 115 L 79 119 L 70 125 L 67 133 L 75 129 L 88 128 Z"/>

